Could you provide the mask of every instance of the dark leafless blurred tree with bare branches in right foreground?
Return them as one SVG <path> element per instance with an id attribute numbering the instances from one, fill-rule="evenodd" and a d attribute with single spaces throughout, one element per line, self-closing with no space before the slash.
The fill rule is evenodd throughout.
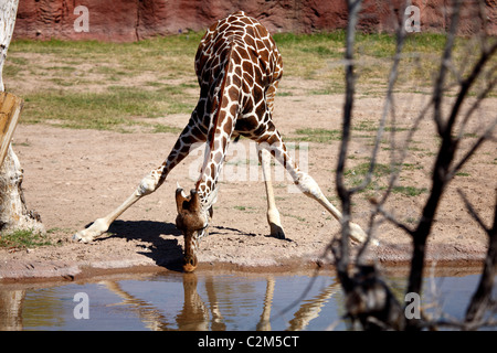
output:
<path id="1" fill-rule="evenodd" d="M 370 203 L 372 205 L 372 211 L 369 217 L 368 225 L 368 237 L 366 244 L 359 249 L 358 257 L 356 258 L 355 272 L 353 276 L 349 275 L 349 265 L 350 265 L 350 255 L 349 255 L 349 245 L 348 245 L 348 236 L 349 236 L 349 222 L 351 215 L 351 197 L 355 193 L 363 190 L 368 184 L 370 184 L 374 168 L 377 165 L 377 159 L 380 149 L 380 141 L 384 133 L 384 127 L 387 122 L 387 118 L 389 114 L 392 116 L 392 122 L 395 119 L 395 107 L 394 107 L 394 86 L 396 83 L 396 78 L 399 75 L 399 65 L 402 57 L 402 50 L 405 33 L 403 32 L 403 28 L 399 26 L 396 31 L 396 46 L 395 46 L 395 56 L 393 57 L 393 63 L 391 71 L 389 73 L 388 81 L 388 90 L 385 96 L 385 101 L 383 106 L 383 110 L 380 117 L 379 129 L 377 130 L 376 143 L 374 148 L 371 152 L 371 161 L 369 164 L 368 172 L 366 178 L 361 181 L 360 185 L 356 188 L 347 189 L 345 184 L 343 171 L 345 163 L 348 153 L 349 141 L 351 138 L 351 124 L 352 124 L 352 110 L 353 110 L 353 98 L 355 98 L 355 84 L 356 84 L 356 73 L 355 73 L 355 60 L 353 60 L 353 45 L 355 45 L 355 28 L 358 22 L 358 13 L 361 6 L 360 0 L 348 0 L 348 10 L 349 10 L 349 22 L 347 26 L 347 35 L 346 35 L 346 54 L 345 54 L 345 72 L 346 72 L 346 99 L 343 106 L 343 117 L 342 117 L 342 136 L 341 143 L 338 156 L 338 165 L 336 171 L 336 188 L 337 193 L 340 197 L 342 205 L 343 217 L 341 221 L 341 237 L 335 238 L 328 246 L 328 249 L 331 250 L 336 258 L 336 268 L 337 275 L 341 282 L 341 286 L 346 292 L 346 309 L 348 317 L 352 320 L 358 320 L 361 322 L 363 329 L 368 330 L 388 330 L 388 329 L 396 329 L 396 330 L 421 330 L 425 328 L 436 329 L 438 325 L 444 324 L 453 324 L 459 328 L 473 328 L 476 327 L 475 323 L 488 322 L 488 320 L 484 320 L 483 315 L 479 314 L 480 309 L 469 309 L 465 323 L 453 323 L 452 320 L 430 320 L 423 318 L 421 320 L 417 319 L 405 319 L 403 314 L 401 314 L 402 310 L 396 300 L 393 300 L 391 296 L 391 291 L 388 286 L 385 286 L 379 278 L 379 274 L 376 271 L 376 267 L 371 265 L 364 265 L 362 261 L 363 254 L 366 252 L 366 247 L 368 245 L 369 239 L 373 236 L 376 228 L 382 221 L 388 221 L 395 225 L 395 227 L 402 229 L 406 234 L 411 236 L 413 244 L 412 252 L 412 260 L 411 260 L 411 269 L 409 275 L 409 282 L 406 292 L 422 292 L 423 285 L 423 268 L 425 261 L 425 249 L 426 249 L 426 240 L 429 235 L 431 234 L 432 226 L 435 220 L 435 215 L 437 212 L 437 207 L 440 205 L 442 195 L 445 192 L 447 184 L 454 178 L 454 174 L 459 170 L 469 158 L 478 150 L 478 148 L 488 139 L 490 139 L 491 133 L 494 131 L 495 126 L 497 125 L 497 120 L 493 121 L 486 129 L 486 131 L 477 139 L 476 142 L 469 148 L 469 150 L 464 153 L 462 159 L 455 163 L 454 160 L 456 152 L 458 150 L 458 145 L 464 136 L 464 129 L 469 121 L 470 117 L 474 115 L 476 109 L 479 107 L 480 101 L 488 95 L 488 93 L 497 85 L 497 79 L 491 78 L 488 84 L 484 87 L 483 92 L 480 92 L 476 98 L 476 101 L 473 103 L 468 110 L 466 110 L 465 115 L 461 120 L 461 110 L 463 104 L 466 100 L 466 97 L 469 94 L 469 90 L 475 85 L 477 79 L 484 73 L 484 68 L 486 64 L 489 62 L 491 56 L 497 51 L 497 42 L 488 40 L 487 36 L 482 38 L 482 52 L 476 63 L 470 67 L 469 74 L 464 75 L 464 68 L 457 71 L 455 65 L 456 61 L 453 60 L 453 52 L 456 40 L 457 25 L 459 20 L 459 11 L 462 7 L 462 0 L 454 0 L 454 6 L 452 7 L 451 14 L 451 28 L 447 33 L 446 43 L 444 46 L 444 51 L 442 54 L 441 64 L 438 67 L 438 74 L 435 78 L 435 83 L 433 86 L 433 93 L 431 99 L 427 104 L 420 110 L 412 128 L 410 129 L 408 137 L 404 138 L 404 143 L 402 143 L 403 149 L 400 152 L 400 156 L 396 157 L 394 150 L 396 148 L 392 148 L 391 152 L 391 173 L 388 188 L 385 192 L 382 193 L 382 196 L 377 199 L 370 199 Z M 480 9 L 482 10 L 482 9 Z M 400 21 L 402 23 L 402 21 Z M 453 73 L 456 77 L 455 83 L 447 83 L 448 74 Z M 454 87 L 458 88 L 458 93 L 454 101 L 448 106 L 448 116 L 444 118 L 442 109 L 446 108 L 444 105 L 444 97 L 447 93 L 447 89 L 453 89 Z M 396 180 L 400 176 L 401 163 L 405 160 L 408 156 L 408 147 L 411 143 L 414 132 L 419 127 L 421 120 L 426 117 L 427 113 L 433 107 L 433 121 L 436 125 L 436 130 L 438 136 L 441 137 L 441 146 L 437 151 L 433 173 L 431 178 L 431 190 L 426 202 L 422 208 L 421 217 L 415 225 L 415 227 L 411 228 L 406 224 L 400 222 L 395 218 L 395 216 L 389 213 L 384 205 L 387 203 L 388 197 L 392 193 L 392 190 L 395 185 Z M 459 122 L 458 137 L 453 137 L 454 129 L 456 128 L 457 122 Z M 395 146 L 395 131 L 392 131 L 391 135 L 391 143 L 392 147 Z M 399 158 L 400 162 L 399 163 Z M 462 194 L 463 200 L 467 203 L 467 200 Z M 469 205 L 467 203 L 467 205 Z M 478 223 L 482 221 L 478 218 L 474 210 L 467 206 L 469 212 L 475 214 L 475 218 Z M 381 215 L 381 217 L 378 217 Z M 380 220 L 378 220 L 380 218 Z M 497 215 L 496 215 L 497 218 Z M 479 221 L 478 221 L 479 220 Z M 495 228 L 495 225 L 494 225 Z M 495 231 L 494 231 L 495 233 Z M 494 237 L 490 242 L 489 248 L 491 248 L 494 253 L 490 253 L 487 256 L 491 258 L 487 260 L 486 268 L 491 268 L 493 272 L 495 272 L 495 254 L 497 253 L 497 245 L 495 245 Z M 480 287 L 483 285 L 480 284 Z M 488 279 L 485 281 L 485 290 L 488 290 Z M 491 286 L 490 286 L 491 287 Z M 479 289 L 478 289 L 479 290 Z M 478 291 L 477 291 L 478 292 Z M 475 293 L 475 298 L 477 293 Z M 482 302 L 482 300 L 475 299 L 474 302 Z M 472 306 L 476 306 L 472 302 Z M 470 306 L 470 308 L 473 308 Z M 491 302 L 486 302 L 485 308 L 491 307 Z M 479 306 L 478 308 L 480 308 Z M 475 307 L 476 308 L 476 307 Z M 472 314 L 469 314 L 472 312 Z M 476 313 L 474 313 L 476 312 Z"/>

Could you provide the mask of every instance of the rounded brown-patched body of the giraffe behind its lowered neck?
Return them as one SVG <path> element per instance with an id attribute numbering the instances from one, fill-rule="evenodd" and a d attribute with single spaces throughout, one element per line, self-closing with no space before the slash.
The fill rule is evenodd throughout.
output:
<path id="1" fill-rule="evenodd" d="M 229 75 L 231 84 L 242 90 L 242 116 L 255 114 L 261 118 L 266 106 L 273 110 L 283 62 L 264 25 L 240 11 L 219 20 L 205 32 L 197 51 L 195 72 L 201 87 L 201 110 L 205 114 L 216 109 L 219 89 Z"/>

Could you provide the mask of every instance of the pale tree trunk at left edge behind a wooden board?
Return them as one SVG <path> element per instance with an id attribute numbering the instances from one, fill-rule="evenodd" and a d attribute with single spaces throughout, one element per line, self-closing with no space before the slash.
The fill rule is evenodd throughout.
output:
<path id="1" fill-rule="evenodd" d="M 0 90 L 4 92 L 2 72 L 15 24 L 19 0 L 0 2 Z M 23 170 L 11 143 L 0 167 L 0 231 L 32 229 L 44 233 L 40 216 L 28 211 L 22 192 Z"/>

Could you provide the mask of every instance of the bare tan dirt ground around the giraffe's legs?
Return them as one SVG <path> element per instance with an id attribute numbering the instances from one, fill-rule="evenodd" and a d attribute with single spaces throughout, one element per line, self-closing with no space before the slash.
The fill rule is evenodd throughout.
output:
<path id="1" fill-rule="evenodd" d="M 422 94 L 398 95 L 399 127 L 411 126 L 427 98 Z M 474 143 L 476 133 L 495 117 L 497 99 L 491 98 L 478 109 L 466 129 L 463 150 Z M 276 98 L 274 117 L 284 138 L 298 146 L 293 148 L 297 162 L 307 169 L 337 206 L 334 171 L 339 141 L 302 141 L 296 131 L 340 129 L 341 109 L 341 95 L 309 96 L 295 90 Z M 381 109 L 380 98 L 364 96 L 356 101 L 355 116 L 358 122 L 378 125 Z M 175 115 L 159 120 L 182 127 L 188 116 Z M 355 130 L 348 168 L 368 160 L 372 149 L 372 138 L 363 136 L 368 133 L 372 136 L 373 132 Z M 400 141 L 402 133 L 406 132 L 398 132 Z M 173 133 L 150 133 L 139 129 L 119 133 L 21 124 L 14 135 L 13 148 L 24 169 L 27 205 L 41 215 L 47 236 L 55 245 L 0 249 L 0 279 L 75 278 L 91 270 L 138 267 L 179 270 L 183 239 L 175 226 L 173 195 L 177 182 L 186 190 L 193 188 L 201 150 L 178 165 L 158 191 L 126 211 L 107 234 L 92 244 L 71 242 L 76 231 L 104 216 L 133 193 L 141 178 L 167 158 L 176 138 Z M 399 183 L 429 190 L 438 146 L 430 119 L 421 122 L 413 140 Z M 317 202 L 295 193 L 289 176 L 277 170 L 273 175 L 276 203 L 287 240 L 267 236 L 266 199 L 256 154 L 248 140 L 242 139 L 239 143 L 239 147 L 232 146 L 237 152 L 229 157 L 224 169 L 228 171 L 220 183 L 211 234 L 201 243 L 198 270 L 215 266 L 277 270 L 288 266 L 330 264 L 331 258 L 321 258 L 321 255 L 338 234 L 338 222 Z M 379 162 L 388 164 L 390 143 L 381 146 Z M 468 215 L 457 189 L 467 194 L 482 218 L 489 224 L 495 202 L 496 157 L 495 140 L 485 143 L 451 183 L 429 240 L 430 261 L 464 267 L 478 264 L 484 257 L 486 235 Z M 251 174 L 254 170 L 257 172 Z M 378 190 L 377 194 L 381 192 Z M 416 196 L 395 193 L 387 208 L 400 221 L 412 225 L 420 217 L 426 196 L 426 192 Z M 353 221 L 363 228 L 370 213 L 368 197 L 368 193 L 357 195 L 353 205 Z M 388 265 L 409 260 L 410 238 L 405 234 L 388 222 L 383 222 L 376 234 L 380 246 L 369 250 L 371 260 Z"/>

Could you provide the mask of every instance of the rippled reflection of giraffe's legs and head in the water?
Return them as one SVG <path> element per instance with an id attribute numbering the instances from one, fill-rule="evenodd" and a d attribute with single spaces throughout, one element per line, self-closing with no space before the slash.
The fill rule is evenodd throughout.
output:
<path id="1" fill-rule="evenodd" d="M 221 312 L 221 304 L 218 300 L 218 291 L 221 290 L 219 284 L 216 286 L 214 276 L 207 276 L 204 279 L 204 290 L 207 292 L 207 303 L 198 291 L 198 277 L 195 274 L 183 274 L 183 295 L 184 301 L 181 311 L 176 318 L 165 315 L 159 307 L 155 307 L 149 302 L 136 298 L 123 290 L 117 281 L 102 281 L 115 295 L 119 296 L 123 301 L 116 306 L 126 306 L 130 311 L 138 314 L 145 327 L 150 330 L 166 331 L 224 331 L 226 330 L 226 320 Z M 303 288 L 304 290 L 304 288 Z M 309 322 L 319 317 L 325 303 L 330 297 L 338 292 L 340 287 L 334 282 L 319 290 L 318 295 L 310 299 L 300 301 L 295 308 L 294 318 L 289 320 L 287 330 L 299 331 L 305 330 Z M 257 323 L 254 322 L 254 329 L 258 331 L 271 331 L 271 319 L 273 298 L 275 291 L 275 278 L 266 277 L 266 291 L 264 297 L 264 307 Z M 296 293 L 298 297 L 300 292 Z M 294 308 L 292 308 L 294 310 Z M 278 312 L 275 313 L 276 315 Z"/>

